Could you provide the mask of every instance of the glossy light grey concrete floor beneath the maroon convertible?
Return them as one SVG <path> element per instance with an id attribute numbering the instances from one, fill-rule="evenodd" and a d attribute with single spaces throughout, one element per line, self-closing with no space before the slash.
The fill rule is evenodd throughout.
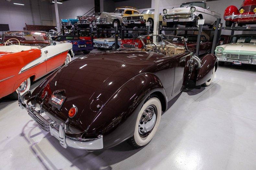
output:
<path id="1" fill-rule="evenodd" d="M 156 135 L 145 147 L 134 149 L 123 142 L 87 152 L 64 149 L 17 101 L 4 98 L 0 169 L 255 170 L 255 102 L 256 67 L 219 66 L 212 85 L 185 90 L 169 102 Z"/>

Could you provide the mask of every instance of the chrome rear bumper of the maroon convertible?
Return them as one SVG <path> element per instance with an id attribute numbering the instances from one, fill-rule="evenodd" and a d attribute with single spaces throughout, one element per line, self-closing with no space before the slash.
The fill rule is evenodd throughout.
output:
<path id="1" fill-rule="evenodd" d="M 49 122 L 46 120 L 42 113 L 44 113 L 42 105 L 40 105 L 39 110 L 35 110 L 36 107 L 34 105 L 29 105 L 29 100 L 25 104 L 25 95 L 27 97 L 31 97 L 30 91 L 26 92 L 22 96 L 18 94 L 18 104 L 21 109 L 26 108 L 28 111 L 29 116 L 38 123 L 38 125 L 41 126 L 41 128 L 47 132 L 50 132 L 52 136 L 57 138 L 60 141 L 60 145 L 62 145 L 64 148 L 73 147 L 76 149 L 86 149 L 86 150 L 99 150 L 103 148 L 103 136 L 98 135 L 98 138 L 93 139 L 78 139 L 78 138 L 70 138 L 66 136 L 66 124 L 61 123 L 58 125 L 53 120 Z"/>

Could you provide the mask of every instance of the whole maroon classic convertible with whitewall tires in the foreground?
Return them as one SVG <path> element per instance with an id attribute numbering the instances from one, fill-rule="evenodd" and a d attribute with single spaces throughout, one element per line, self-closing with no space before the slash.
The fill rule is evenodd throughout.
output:
<path id="1" fill-rule="evenodd" d="M 20 107 L 64 148 L 148 144 L 168 101 L 184 87 L 210 85 L 218 63 L 213 54 L 192 56 L 183 37 L 140 38 L 142 49 L 89 54 L 61 67 L 19 96 Z"/>

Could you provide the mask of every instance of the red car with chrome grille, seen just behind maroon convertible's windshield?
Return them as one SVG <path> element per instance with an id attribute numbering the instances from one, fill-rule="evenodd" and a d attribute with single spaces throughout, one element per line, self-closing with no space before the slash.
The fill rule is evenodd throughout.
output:
<path id="1" fill-rule="evenodd" d="M 142 48 L 143 43 L 139 38 L 140 35 L 145 35 L 145 33 L 138 33 L 133 38 L 121 40 L 121 48 Z"/>

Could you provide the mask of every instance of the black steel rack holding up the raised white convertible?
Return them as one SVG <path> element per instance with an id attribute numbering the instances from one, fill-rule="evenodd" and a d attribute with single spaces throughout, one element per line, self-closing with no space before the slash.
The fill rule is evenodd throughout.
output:
<path id="1" fill-rule="evenodd" d="M 220 24 L 220 18 L 217 18 L 216 24 L 214 25 L 215 28 L 204 28 L 203 25 L 199 25 L 198 27 L 178 27 L 175 25 L 175 27 L 170 28 L 170 27 L 163 27 L 162 26 L 162 21 L 159 21 L 158 24 L 158 34 L 162 34 L 162 31 L 175 31 L 175 35 L 177 35 L 177 31 L 185 31 L 185 34 L 187 34 L 187 31 L 198 31 L 197 34 L 197 42 L 196 42 L 196 55 L 199 56 L 199 48 L 200 48 L 200 40 L 201 40 L 201 35 L 202 31 L 214 31 L 214 37 L 213 37 L 213 45 L 212 45 L 212 50 L 211 53 L 214 54 L 215 46 L 217 44 L 217 40 L 219 39 L 220 33 L 218 33 L 218 28 Z"/>

